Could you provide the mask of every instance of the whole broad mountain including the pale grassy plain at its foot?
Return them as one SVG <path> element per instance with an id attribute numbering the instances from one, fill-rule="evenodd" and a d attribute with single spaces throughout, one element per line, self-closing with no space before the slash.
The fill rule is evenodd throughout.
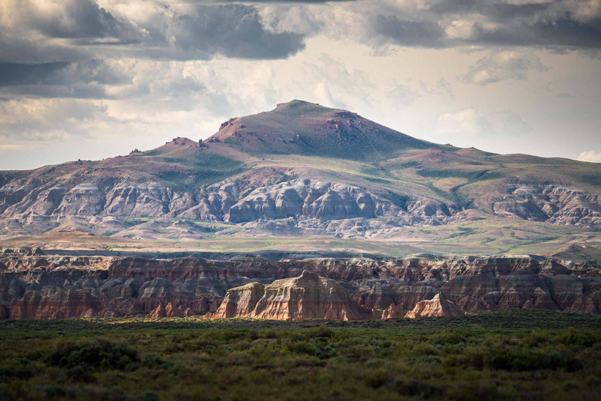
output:
<path id="1" fill-rule="evenodd" d="M 293 100 L 231 118 L 204 141 L 2 171 L 0 238 L 46 249 L 594 257 L 600 173 L 601 164 L 433 144 Z M 586 252 L 563 251 L 575 244 Z"/>

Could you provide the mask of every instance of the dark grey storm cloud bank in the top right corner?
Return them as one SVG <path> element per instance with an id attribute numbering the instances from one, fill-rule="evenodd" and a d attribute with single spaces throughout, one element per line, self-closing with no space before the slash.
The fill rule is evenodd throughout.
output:
<path id="1" fill-rule="evenodd" d="M 586 2 L 444 0 L 427 2 L 423 10 L 395 9 L 394 16 L 369 21 L 370 31 L 401 46 L 457 47 L 545 46 L 601 49 L 601 16 Z M 580 7 L 580 8 L 579 8 Z M 470 35 L 445 33 L 459 20 L 472 26 Z M 452 26 L 451 26 L 452 28 Z"/>

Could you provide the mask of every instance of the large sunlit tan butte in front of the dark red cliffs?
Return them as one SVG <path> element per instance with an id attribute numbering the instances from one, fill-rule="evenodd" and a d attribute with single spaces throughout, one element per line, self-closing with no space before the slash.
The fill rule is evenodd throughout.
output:
<path id="1" fill-rule="evenodd" d="M 275 320 L 360 320 L 370 316 L 371 311 L 359 307 L 349 290 L 308 271 L 272 284 L 249 283 L 228 290 L 219 309 L 206 315 Z"/>

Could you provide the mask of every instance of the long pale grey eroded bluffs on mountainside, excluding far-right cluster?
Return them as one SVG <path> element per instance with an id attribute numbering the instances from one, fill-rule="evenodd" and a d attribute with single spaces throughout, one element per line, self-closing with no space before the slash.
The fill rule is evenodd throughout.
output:
<path id="1" fill-rule="evenodd" d="M 260 180 L 250 179 L 256 184 L 241 188 L 239 182 L 225 180 L 208 186 L 201 194 L 184 192 L 183 195 L 157 182 L 124 182 L 102 188 L 93 180 L 75 186 L 14 184 L 0 189 L 0 197 L 4 194 L 0 203 L 3 205 L 0 213 L 4 212 L 0 234 L 43 233 L 56 228 L 58 222 L 66 225 L 66 219 L 73 222 L 66 228 L 104 234 L 114 230 L 96 227 L 98 223 L 93 218 L 126 216 L 234 224 L 292 218 L 295 226 L 318 224 L 321 230 L 339 231 L 336 224 L 327 222 L 388 216 L 397 219 L 398 224 L 439 225 L 456 213 L 455 207 L 426 198 L 407 203 L 405 210 L 382 195 L 346 183 L 303 179 L 258 186 Z M 142 230 L 140 224 L 129 231 Z M 125 227 L 112 228 L 125 231 Z M 129 231 L 120 234 L 129 237 Z"/>

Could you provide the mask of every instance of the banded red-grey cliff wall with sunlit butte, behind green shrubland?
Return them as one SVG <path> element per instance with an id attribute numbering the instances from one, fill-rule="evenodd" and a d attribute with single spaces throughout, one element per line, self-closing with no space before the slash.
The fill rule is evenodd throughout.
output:
<path id="1" fill-rule="evenodd" d="M 600 313 L 601 266 L 527 256 L 229 261 L 184 257 L 0 256 L 0 318 L 401 317 L 444 296 L 466 311 L 542 308 Z"/>

